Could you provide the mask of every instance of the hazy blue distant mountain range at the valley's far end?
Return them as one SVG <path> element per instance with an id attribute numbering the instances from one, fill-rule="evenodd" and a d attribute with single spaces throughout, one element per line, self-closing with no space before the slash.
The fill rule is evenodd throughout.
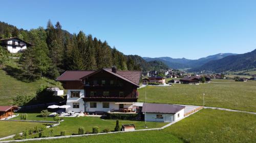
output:
<path id="1" fill-rule="evenodd" d="M 218 53 L 215 55 L 209 55 L 206 56 L 205 58 L 200 58 L 197 60 L 189 60 L 185 58 L 180 58 L 180 59 L 173 59 L 170 57 L 159 57 L 159 58 L 148 58 L 148 57 L 143 57 L 145 61 L 161 61 L 164 64 L 166 64 L 169 68 L 173 69 L 190 69 L 190 68 L 195 68 L 195 67 L 200 67 L 212 60 L 220 60 L 225 58 L 226 56 L 230 55 L 237 55 L 236 53 Z"/>

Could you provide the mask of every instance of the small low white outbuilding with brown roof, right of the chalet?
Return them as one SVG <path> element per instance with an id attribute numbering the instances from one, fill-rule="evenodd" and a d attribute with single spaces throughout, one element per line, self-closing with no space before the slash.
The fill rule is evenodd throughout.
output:
<path id="1" fill-rule="evenodd" d="M 142 112 L 146 121 L 174 122 L 184 117 L 184 108 L 174 104 L 144 103 Z"/>

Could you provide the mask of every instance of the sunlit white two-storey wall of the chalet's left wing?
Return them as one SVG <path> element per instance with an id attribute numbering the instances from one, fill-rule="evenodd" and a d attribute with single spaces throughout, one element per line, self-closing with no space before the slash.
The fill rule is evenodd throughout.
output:
<path id="1" fill-rule="evenodd" d="M 71 97 L 71 91 L 80 91 L 80 97 Z M 67 90 L 67 103 L 66 105 L 70 105 L 71 107 L 67 109 L 67 111 L 74 112 L 84 112 L 84 90 Z M 73 103 L 79 103 L 79 108 L 73 108 Z"/>

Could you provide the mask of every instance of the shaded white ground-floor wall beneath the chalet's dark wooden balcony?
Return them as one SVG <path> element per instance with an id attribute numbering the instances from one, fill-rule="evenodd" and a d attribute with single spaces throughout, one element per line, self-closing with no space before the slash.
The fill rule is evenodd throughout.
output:
<path id="1" fill-rule="evenodd" d="M 104 111 L 107 112 L 109 110 L 118 110 L 119 109 L 119 104 L 116 104 L 115 102 L 109 102 L 110 107 L 109 108 L 103 108 L 102 103 L 103 102 L 96 102 L 97 103 L 97 108 L 91 108 L 90 107 L 91 102 L 86 102 L 86 112 L 94 112 L 94 111 Z M 124 104 L 124 108 L 132 108 L 133 104 Z"/>

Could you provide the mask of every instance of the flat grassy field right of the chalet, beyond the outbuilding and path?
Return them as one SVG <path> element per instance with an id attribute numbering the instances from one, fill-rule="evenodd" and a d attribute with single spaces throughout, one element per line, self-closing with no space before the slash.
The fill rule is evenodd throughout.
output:
<path id="1" fill-rule="evenodd" d="M 256 112 L 256 81 L 238 82 L 214 79 L 200 85 L 174 84 L 171 87 L 146 87 L 147 102 L 223 107 Z M 145 88 L 139 89 L 139 102 L 145 100 Z"/>

